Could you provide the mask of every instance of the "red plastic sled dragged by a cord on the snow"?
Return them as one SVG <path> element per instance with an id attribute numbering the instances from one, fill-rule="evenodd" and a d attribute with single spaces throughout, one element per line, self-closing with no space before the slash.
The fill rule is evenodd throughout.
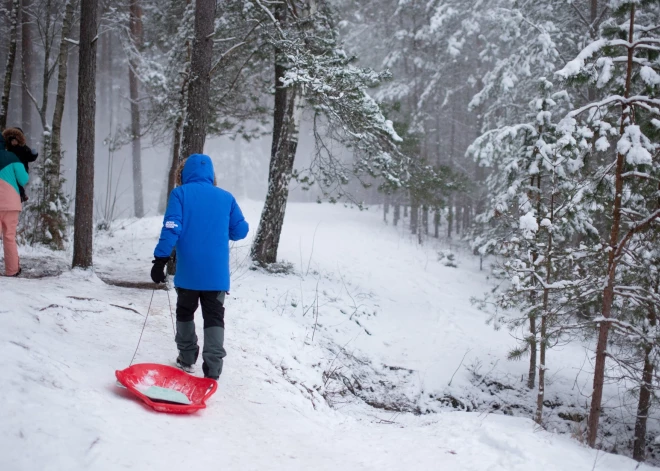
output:
<path id="1" fill-rule="evenodd" d="M 115 371 L 117 381 L 145 404 L 158 412 L 172 414 L 191 414 L 206 408 L 206 400 L 218 388 L 218 383 L 209 378 L 198 378 L 173 366 L 156 363 L 139 363 L 125 370 Z M 172 389 L 183 393 L 190 404 L 173 404 L 155 401 L 143 394 L 151 386 Z"/>

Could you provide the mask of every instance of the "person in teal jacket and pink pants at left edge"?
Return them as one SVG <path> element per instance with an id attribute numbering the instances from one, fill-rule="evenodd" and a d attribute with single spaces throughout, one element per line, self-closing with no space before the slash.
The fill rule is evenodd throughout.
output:
<path id="1" fill-rule="evenodd" d="M 30 177 L 18 157 L 7 151 L 0 136 L 0 233 L 5 255 L 5 275 L 21 273 L 16 246 L 18 216 L 23 209 L 19 187 L 27 185 Z"/>

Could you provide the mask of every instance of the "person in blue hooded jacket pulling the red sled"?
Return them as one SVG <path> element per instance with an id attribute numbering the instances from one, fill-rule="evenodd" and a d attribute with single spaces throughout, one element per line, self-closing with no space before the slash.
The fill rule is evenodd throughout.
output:
<path id="1" fill-rule="evenodd" d="M 229 241 L 247 236 L 249 226 L 231 193 L 214 185 L 209 156 L 193 154 L 181 172 L 181 186 L 170 194 L 151 279 L 165 281 L 165 266 L 176 246 L 177 365 L 192 372 L 199 356 L 195 323 L 198 304 L 204 318 L 204 376 L 217 380 L 226 356 L 225 294 L 229 291 Z"/>

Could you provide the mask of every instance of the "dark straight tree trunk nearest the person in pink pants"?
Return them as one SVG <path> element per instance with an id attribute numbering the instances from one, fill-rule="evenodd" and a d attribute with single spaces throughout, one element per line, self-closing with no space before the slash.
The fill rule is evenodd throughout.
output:
<path id="1" fill-rule="evenodd" d="M 94 238 L 94 137 L 98 0 L 81 0 L 78 65 L 78 139 L 73 267 L 92 266 Z"/>

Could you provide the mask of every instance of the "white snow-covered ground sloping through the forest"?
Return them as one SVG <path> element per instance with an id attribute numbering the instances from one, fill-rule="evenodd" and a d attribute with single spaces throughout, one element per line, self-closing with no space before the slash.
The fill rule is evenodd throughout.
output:
<path id="1" fill-rule="evenodd" d="M 260 209 L 244 204 L 251 235 Z M 288 273 L 251 270 L 250 241 L 235 245 L 229 355 L 192 416 L 155 413 L 114 381 L 152 295 L 136 362 L 176 354 L 167 292 L 103 281 L 149 281 L 159 217 L 100 234 L 95 274 L 64 269 L 70 254 L 24 249 L 26 264 L 47 258 L 49 274 L 63 273 L 0 278 L 0 469 L 655 469 L 511 416 L 529 399 L 512 387 L 526 364 L 506 360 L 515 339 L 470 303 L 489 289 L 487 271 L 460 251 L 447 266 L 442 243 L 417 246 L 381 219 L 290 204 Z M 575 346 L 549 354 L 549 398 L 567 412 L 585 401 L 584 361 Z"/>

